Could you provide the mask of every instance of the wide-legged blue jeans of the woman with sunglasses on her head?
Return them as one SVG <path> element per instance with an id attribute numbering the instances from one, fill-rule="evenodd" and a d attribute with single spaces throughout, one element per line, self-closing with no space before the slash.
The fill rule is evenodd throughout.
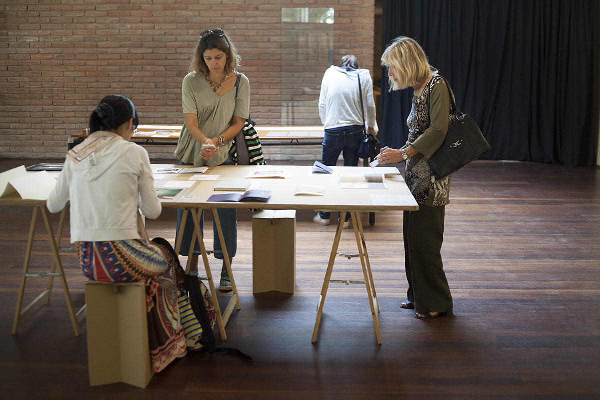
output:
<path id="1" fill-rule="evenodd" d="M 185 164 L 179 161 L 181 165 L 191 165 Z M 232 166 L 233 158 L 229 155 L 229 158 L 221 164 L 224 166 Z M 233 209 L 217 209 L 219 219 L 221 221 L 221 229 L 223 230 L 223 237 L 225 239 L 225 246 L 227 247 L 227 254 L 229 257 L 235 257 L 236 252 L 238 251 L 238 210 Z M 176 238 L 179 237 L 179 225 L 181 225 L 181 219 L 183 218 L 184 210 L 177 209 L 177 233 Z M 212 230 L 214 232 L 213 236 L 213 251 L 215 258 L 218 260 L 224 260 L 223 257 L 223 248 L 221 247 L 221 240 L 219 239 L 219 234 L 217 231 L 217 224 L 215 221 L 212 221 Z M 200 231 L 202 232 L 202 237 L 204 237 L 204 210 L 202 210 L 202 215 L 200 216 Z M 190 254 L 190 242 L 191 238 L 194 234 L 194 219 L 191 216 L 191 213 L 188 213 L 187 221 L 185 221 L 185 229 L 184 236 L 181 242 L 181 249 L 179 250 L 179 255 L 183 255 L 187 257 Z M 200 245 L 197 240 L 194 243 L 194 253 L 200 254 Z"/>

